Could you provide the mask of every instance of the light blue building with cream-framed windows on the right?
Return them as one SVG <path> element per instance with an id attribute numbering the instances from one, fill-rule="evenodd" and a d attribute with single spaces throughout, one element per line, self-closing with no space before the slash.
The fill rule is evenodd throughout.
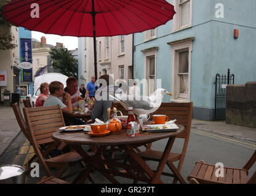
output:
<path id="1" fill-rule="evenodd" d="M 216 74 L 230 69 L 235 84 L 256 81 L 256 1 L 168 2 L 174 20 L 134 34 L 134 78 L 148 81 L 144 94 L 161 86 L 173 94 L 164 102 L 193 101 L 193 118 L 213 120 Z"/>

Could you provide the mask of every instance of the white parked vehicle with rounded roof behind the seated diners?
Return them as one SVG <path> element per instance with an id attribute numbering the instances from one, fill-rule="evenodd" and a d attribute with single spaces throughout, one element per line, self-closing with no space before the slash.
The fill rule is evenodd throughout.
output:
<path id="1" fill-rule="evenodd" d="M 52 81 L 60 81 L 61 83 L 63 83 L 65 88 L 66 79 L 68 79 L 66 75 L 59 74 L 59 73 L 48 73 L 48 74 L 39 75 L 39 77 L 36 77 L 36 79 L 34 80 L 34 94 L 33 94 L 33 97 L 31 98 L 31 102 L 36 103 L 36 99 L 41 93 L 39 89 L 41 83 L 47 82 L 50 84 Z M 31 96 L 31 95 L 28 95 L 28 96 Z"/>

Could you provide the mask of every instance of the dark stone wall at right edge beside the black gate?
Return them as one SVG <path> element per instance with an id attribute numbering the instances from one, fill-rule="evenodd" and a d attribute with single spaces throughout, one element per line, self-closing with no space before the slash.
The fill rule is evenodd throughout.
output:
<path id="1" fill-rule="evenodd" d="M 256 81 L 226 86 L 226 123 L 256 127 Z"/>

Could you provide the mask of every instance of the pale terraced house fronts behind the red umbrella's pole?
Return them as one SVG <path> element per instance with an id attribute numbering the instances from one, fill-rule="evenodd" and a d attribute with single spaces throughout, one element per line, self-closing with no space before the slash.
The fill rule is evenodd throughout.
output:
<path id="1" fill-rule="evenodd" d="M 132 34 L 127 36 L 97 37 L 97 74 L 113 74 L 114 80 L 122 79 L 128 85 L 132 79 Z M 94 75 L 93 38 L 78 39 L 79 85 L 85 85 Z"/>

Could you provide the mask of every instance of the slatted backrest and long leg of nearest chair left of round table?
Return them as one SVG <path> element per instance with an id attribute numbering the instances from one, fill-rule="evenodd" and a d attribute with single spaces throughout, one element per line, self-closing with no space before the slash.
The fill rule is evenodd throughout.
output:
<path id="1" fill-rule="evenodd" d="M 51 176 L 52 173 L 44 160 L 39 145 L 54 141 L 52 134 L 60 127 L 65 126 L 62 109 L 60 105 L 23 108 L 23 113 L 28 125 L 28 133 L 30 134 L 34 152 L 46 171 L 47 176 Z"/>

